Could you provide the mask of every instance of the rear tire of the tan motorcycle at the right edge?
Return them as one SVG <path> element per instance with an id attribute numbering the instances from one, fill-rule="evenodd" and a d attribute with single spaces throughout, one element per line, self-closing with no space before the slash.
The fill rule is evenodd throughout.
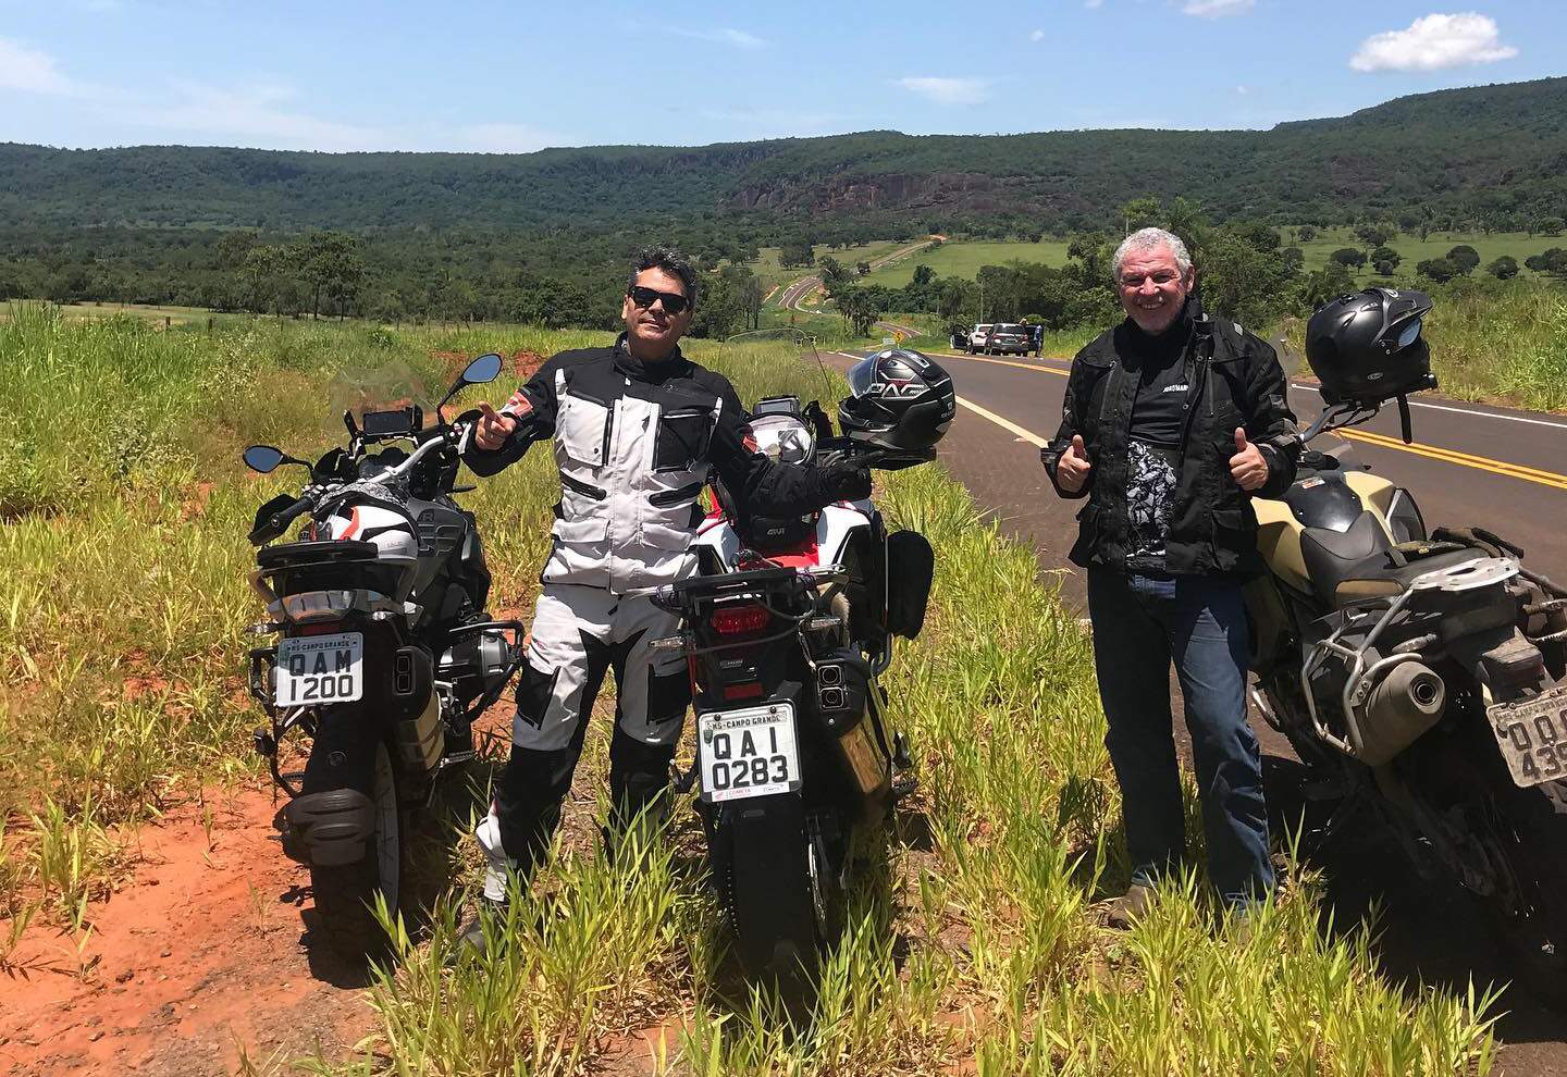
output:
<path id="1" fill-rule="evenodd" d="M 1492 833 L 1517 880 L 1518 900 L 1486 903 L 1492 933 L 1515 975 L 1547 1005 L 1567 1011 L 1567 781 L 1518 789 L 1493 800 Z"/>

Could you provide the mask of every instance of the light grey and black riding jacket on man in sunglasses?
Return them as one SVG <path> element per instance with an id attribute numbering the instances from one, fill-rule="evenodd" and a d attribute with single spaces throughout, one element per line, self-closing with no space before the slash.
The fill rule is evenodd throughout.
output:
<path id="1" fill-rule="evenodd" d="M 489 476 L 553 437 L 561 499 L 545 584 L 624 593 L 689 576 L 691 538 L 705 515 L 699 496 L 715 473 L 738 499 L 773 515 L 804 515 L 868 493 L 865 471 L 762 456 L 727 377 L 679 349 L 642 363 L 624 335 L 614 348 L 555 355 L 501 410 L 525 412 L 517 430 L 498 449 L 473 446 L 462 459 Z"/>

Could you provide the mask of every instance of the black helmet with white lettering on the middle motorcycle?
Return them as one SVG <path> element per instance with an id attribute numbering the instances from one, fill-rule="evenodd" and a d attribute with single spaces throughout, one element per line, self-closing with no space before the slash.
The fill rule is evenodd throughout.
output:
<path id="1" fill-rule="evenodd" d="M 956 413 L 951 376 L 912 348 L 890 348 L 849 368 L 838 427 L 859 441 L 926 459 Z"/>

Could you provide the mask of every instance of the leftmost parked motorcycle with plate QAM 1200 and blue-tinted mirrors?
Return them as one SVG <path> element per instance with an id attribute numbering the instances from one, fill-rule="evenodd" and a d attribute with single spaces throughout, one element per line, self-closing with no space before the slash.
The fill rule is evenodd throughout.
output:
<path id="1" fill-rule="evenodd" d="M 345 956 L 382 953 L 376 894 L 407 911 L 409 834 L 437 780 L 473 758 L 472 722 L 523 661 L 520 621 L 490 620 L 490 576 L 473 515 L 453 495 L 476 412 L 440 407 L 494 380 L 500 355 L 475 358 L 425 426 L 418 405 L 343 413 L 348 448 L 315 463 L 252 445 L 262 474 L 309 468 L 304 492 L 257 513 L 251 587 L 277 636 L 249 654 L 249 689 L 270 719 L 254 734 L 288 801 L 274 825 L 284 853 L 310 869 L 315 911 Z M 276 542 L 306 517 L 295 540 Z M 268 545 L 271 543 L 271 545 Z M 508 634 L 511 634 L 508 637 Z M 285 737 L 309 737 L 301 770 L 282 769 Z M 295 753 L 290 753 L 290 758 Z"/>

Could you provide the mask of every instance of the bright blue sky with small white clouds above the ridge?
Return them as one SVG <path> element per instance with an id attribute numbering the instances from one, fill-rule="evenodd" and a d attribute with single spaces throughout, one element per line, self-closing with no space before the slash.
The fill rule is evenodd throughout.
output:
<path id="1" fill-rule="evenodd" d="M 1271 127 L 1567 74 L 1562 0 L 0 0 L 0 141 L 527 152 Z"/>

